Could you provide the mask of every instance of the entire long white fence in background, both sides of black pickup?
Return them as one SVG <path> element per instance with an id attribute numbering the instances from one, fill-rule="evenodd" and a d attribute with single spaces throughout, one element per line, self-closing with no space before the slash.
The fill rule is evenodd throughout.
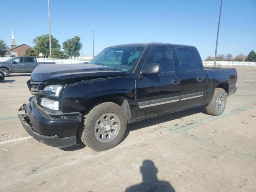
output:
<path id="1" fill-rule="evenodd" d="M 1 61 L 6 61 L 10 57 L 0 57 Z M 55 62 L 56 64 L 81 64 L 83 62 L 89 62 L 90 60 L 80 60 L 80 59 L 46 59 L 46 58 L 36 58 L 37 62 Z M 214 65 L 213 61 L 203 61 L 204 65 Z M 256 66 L 256 62 L 246 62 L 246 61 L 216 61 L 216 66 Z"/>

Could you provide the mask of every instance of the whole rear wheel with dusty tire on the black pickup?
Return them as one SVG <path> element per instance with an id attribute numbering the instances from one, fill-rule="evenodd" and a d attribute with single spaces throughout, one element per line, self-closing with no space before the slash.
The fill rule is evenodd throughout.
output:
<path id="1" fill-rule="evenodd" d="M 206 112 L 209 115 L 219 116 L 223 113 L 227 102 L 226 91 L 222 88 L 216 88 L 212 101 L 206 106 Z"/>

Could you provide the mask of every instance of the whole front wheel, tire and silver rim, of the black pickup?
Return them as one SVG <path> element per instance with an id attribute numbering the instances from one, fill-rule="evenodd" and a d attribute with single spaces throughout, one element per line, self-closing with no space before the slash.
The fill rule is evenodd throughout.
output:
<path id="1" fill-rule="evenodd" d="M 127 119 L 122 108 L 113 102 L 101 102 L 84 116 L 78 134 L 82 142 L 94 151 L 116 146 L 124 136 Z"/>

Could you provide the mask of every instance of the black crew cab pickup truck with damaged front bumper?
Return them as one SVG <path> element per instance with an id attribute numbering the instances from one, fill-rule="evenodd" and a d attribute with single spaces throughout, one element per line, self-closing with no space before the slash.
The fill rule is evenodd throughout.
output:
<path id="1" fill-rule="evenodd" d="M 40 142 L 64 148 L 78 135 L 102 151 L 120 142 L 127 123 L 200 105 L 222 114 L 236 81 L 235 68 L 204 68 L 194 46 L 111 46 L 89 64 L 38 65 L 18 116 Z"/>

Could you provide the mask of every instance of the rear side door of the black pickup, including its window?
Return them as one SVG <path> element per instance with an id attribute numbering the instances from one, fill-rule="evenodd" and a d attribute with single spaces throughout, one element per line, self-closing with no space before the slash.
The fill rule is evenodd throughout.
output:
<path id="1" fill-rule="evenodd" d="M 181 78 L 179 109 L 201 105 L 206 90 L 206 73 L 200 64 L 199 53 L 196 48 L 184 47 L 176 47 L 175 52 Z"/>

